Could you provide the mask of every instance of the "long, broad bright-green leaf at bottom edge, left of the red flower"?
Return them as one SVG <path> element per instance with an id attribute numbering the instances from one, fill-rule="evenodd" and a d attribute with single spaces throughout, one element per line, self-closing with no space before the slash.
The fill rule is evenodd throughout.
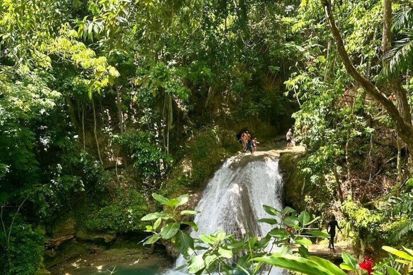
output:
<path id="1" fill-rule="evenodd" d="M 306 258 L 290 254 L 273 254 L 271 256 L 253 258 L 252 260 L 308 275 L 334 275 Z"/>

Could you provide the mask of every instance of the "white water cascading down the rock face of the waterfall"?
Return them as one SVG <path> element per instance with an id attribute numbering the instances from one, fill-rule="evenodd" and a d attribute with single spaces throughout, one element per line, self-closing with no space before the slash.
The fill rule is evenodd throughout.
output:
<path id="1" fill-rule="evenodd" d="M 273 226 L 258 222 L 268 218 L 263 204 L 282 210 L 282 180 L 278 172 L 278 159 L 271 156 L 235 156 L 229 158 L 215 172 L 207 184 L 203 198 L 196 210 L 197 232 L 190 235 L 197 238 L 202 234 L 212 234 L 224 230 L 235 236 L 251 232 L 265 236 Z M 176 267 L 185 264 L 180 256 Z M 280 274 L 273 269 L 271 274 Z"/>

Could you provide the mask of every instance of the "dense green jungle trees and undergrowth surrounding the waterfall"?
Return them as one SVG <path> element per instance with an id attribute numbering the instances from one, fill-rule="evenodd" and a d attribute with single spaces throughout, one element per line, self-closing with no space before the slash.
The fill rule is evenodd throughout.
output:
<path id="1" fill-rule="evenodd" d="M 2 0 L 0 15 L 0 273 L 37 272 L 67 217 L 141 231 L 150 194 L 203 188 L 239 131 L 294 120 L 300 210 L 340 211 L 360 248 L 411 240 L 412 1 Z"/>

